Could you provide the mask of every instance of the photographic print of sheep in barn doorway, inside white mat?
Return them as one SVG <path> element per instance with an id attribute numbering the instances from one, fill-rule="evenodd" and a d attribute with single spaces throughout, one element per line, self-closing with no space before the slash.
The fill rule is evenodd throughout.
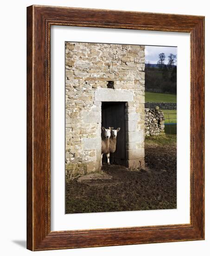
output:
<path id="1" fill-rule="evenodd" d="M 177 47 L 65 42 L 65 213 L 177 208 Z"/>

